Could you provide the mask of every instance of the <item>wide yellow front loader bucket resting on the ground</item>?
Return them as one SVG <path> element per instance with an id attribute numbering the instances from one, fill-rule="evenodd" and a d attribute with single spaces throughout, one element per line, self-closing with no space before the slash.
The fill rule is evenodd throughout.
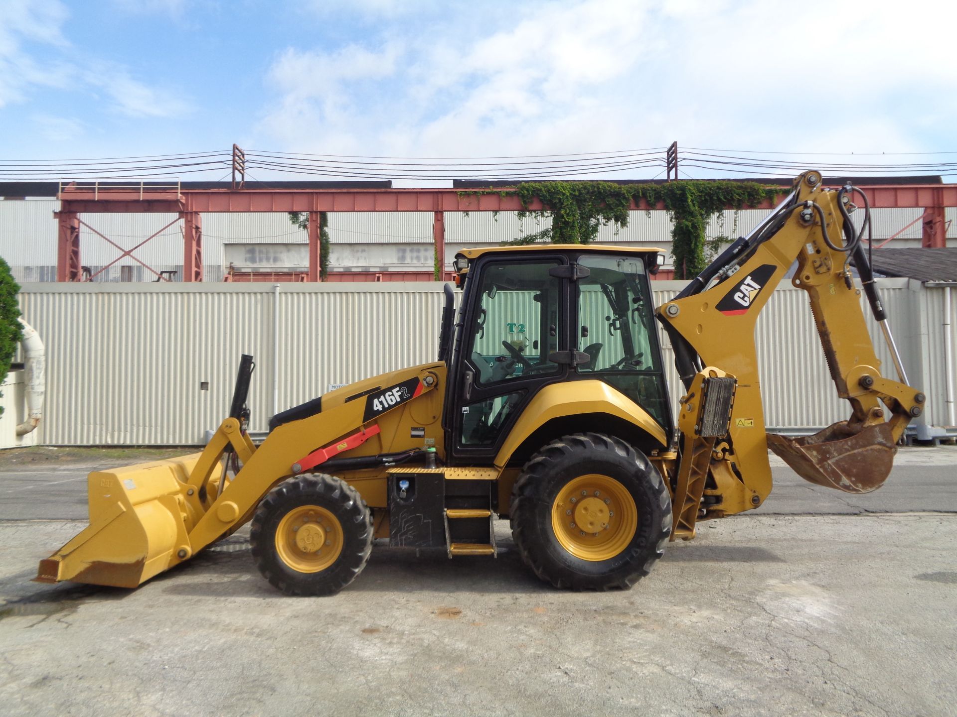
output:
<path id="1" fill-rule="evenodd" d="M 90 525 L 41 560 L 35 579 L 135 588 L 191 554 L 184 492 L 199 456 L 90 473 Z"/>

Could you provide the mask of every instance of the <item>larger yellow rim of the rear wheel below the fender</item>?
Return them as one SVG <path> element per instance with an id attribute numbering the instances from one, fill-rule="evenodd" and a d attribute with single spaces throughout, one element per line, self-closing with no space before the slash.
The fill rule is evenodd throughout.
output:
<path id="1" fill-rule="evenodd" d="M 608 560 L 624 551 L 638 528 L 638 509 L 624 486 L 607 475 L 580 475 L 551 505 L 551 527 L 568 553 Z"/>

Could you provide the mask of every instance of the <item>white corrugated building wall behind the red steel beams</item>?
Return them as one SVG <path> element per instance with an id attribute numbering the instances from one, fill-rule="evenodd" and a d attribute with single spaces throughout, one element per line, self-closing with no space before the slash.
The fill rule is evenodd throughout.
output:
<path id="1" fill-rule="evenodd" d="M 53 281 L 56 278 L 56 220 L 59 202 L 53 199 L 0 201 L 0 256 L 20 282 Z M 948 208 L 948 220 L 957 216 Z M 709 238 L 737 237 L 757 226 L 766 210 L 725 211 L 707 228 Z M 916 217 L 921 209 L 876 209 L 875 236 L 886 238 Z M 129 249 L 163 228 L 175 214 L 84 214 L 82 220 L 111 240 Z M 431 212 L 333 212 L 329 230 L 334 245 L 333 262 L 353 262 L 357 267 L 409 265 L 431 268 L 433 242 Z M 540 231 L 550 219 L 518 212 L 447 212 L 446 245 L 450 252 L 464 246 L 499 244 Z M 652 243 L 663 249 L 671 246 L 672 222 L 664 211 L 633 211 L 626 228 L 603 227 L 598 242 L 603 244 Z M 957 238 L 957 223 L 951 221 L 949 237 Z M 908 228 L 891 246 L 919 245 L 920 223 Z M 203 256 L 207 281 L 221 281 L 226 264 L 224 243 L 304 243 L 305 232 L 293 227 L 284 213 L 207 213 L 203 215 Z M 405 252 L 398 252 L 405 245 Z M 336 250 L 335 247 L 342 248 Z M 84 266 L 97 272 L 120 253 L 89 228 L 80 228 L 80 257 Z M 183 266 L 183 228 L 176 222 L 149 240 L 135 255 L 157 271 L 179 272 Z M 670 258 L 668 259 L 670 264 Z M 126 269 L 123 269 L 125 267 Z M 155 275 L 136 260 L 124 257 L 98 277 L 103 281 L 151 281 Z"/>

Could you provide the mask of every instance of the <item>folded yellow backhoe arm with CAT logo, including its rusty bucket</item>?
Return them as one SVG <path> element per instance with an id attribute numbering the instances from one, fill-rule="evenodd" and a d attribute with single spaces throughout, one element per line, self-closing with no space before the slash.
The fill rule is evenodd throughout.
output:
<path id="1" fill-rule="evenodd" d="M 771 488 L 768 445 L 812 483 L 848 492 L 876 489 L 890 472 L 894 446 L 904 428 L 921 414 L 924 395 L 906 385 L 866 253 L 860 248 L 869 220 L 866 198 L 861 219 L 855 223 L 850 218 L 857 195 L 862 193 L 850 186 L 838 191 L 824 188 L 819 172 L 802 174 L 789 197 L 761 226 L 723 251 L 673 301 L 658 309 L 686 390 L 691 391 L 705 366 L 737 379 L 726 440 L 713 446 L 709 467 L 713 483 L 711 489 L 702 490 L 701 517 L 761 505 Z M 861 288 L 848 268 L 852 259 Z M 754 330 L 771 293 L 795 261 L 792 284 L 808 293 L 831 378 L 837 395 L 850 402 L 851 417 L 793 441 L 766 433 Z M 899 380 L 880 373 L 861 308 L 862 291 L 891 347 Z M 803 389 L 811 393 L 818 386 Z M 695 405 L 686 401 L 690 395 L 682 399 L 682 416 Z M 692 432 L 693 424 L 688 424 Z M 700 453 L 695 445 L 695 437 L 685 433 L 685 456 Z"/>

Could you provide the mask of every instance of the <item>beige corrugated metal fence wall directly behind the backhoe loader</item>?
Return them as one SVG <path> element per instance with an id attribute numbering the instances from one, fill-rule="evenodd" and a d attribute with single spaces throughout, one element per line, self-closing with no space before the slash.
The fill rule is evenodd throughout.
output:
<path id="1" fill-rule="evenodd" d="M 657 282 L 656 304 L 683 284 Z M 906 279 L 884 279 L 880 286 L 909 378 L 928 395 L 924 418 L 942 424 L 944 290 Z M 228 410 L 242 353 L 256 357 L 251 423 L 264 429 L 276 410 L 315 398 L 329 384 L 433 360 L 441 291 L 437 283 L 284 284 L 277 303 L 269 284 L 25 285 L 24 317 L 47 346 L 40 441 L 200 443 Z M 957 292 L 952 294 L 957 312 Z M 872 334 L 883 373 L 893 376 L 873 326 Z M 773 294 L 757 341 L 768 426 L 807 432 L 847 417 L 803 292 L 785 286 Z M 663 343 L 675 402 L 678 377 Z M 202 381 L 209 390 L 201 390 Z"/>

